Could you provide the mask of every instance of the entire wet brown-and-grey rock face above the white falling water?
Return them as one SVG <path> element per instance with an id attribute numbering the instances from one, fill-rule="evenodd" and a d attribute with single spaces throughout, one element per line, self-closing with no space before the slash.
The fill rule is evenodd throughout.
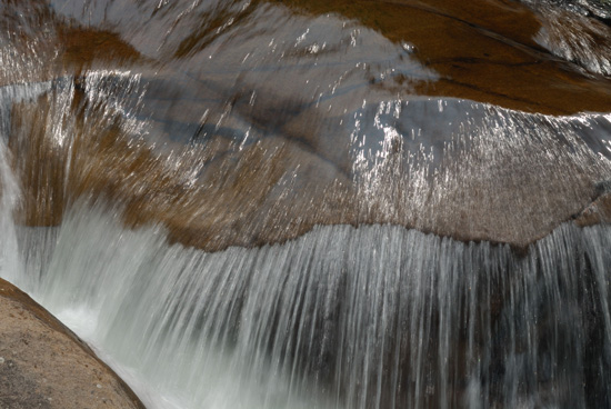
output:
<path id="1" fill-rule="evenodd" d="M 22 36 L 0 83 L 54 80 L 4 101 L 22 225 L 90 200 L 209 251 L 338 223 L 524 248 L 611 178 L 610 118 L 579 113 L 611 111 L 609 28 L 588 17 L 497 0 L 26 3 L 3 9 Z"/>

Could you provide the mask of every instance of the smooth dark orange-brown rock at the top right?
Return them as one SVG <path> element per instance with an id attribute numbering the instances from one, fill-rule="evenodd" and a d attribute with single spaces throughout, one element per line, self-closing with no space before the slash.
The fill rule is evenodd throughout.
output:
<path id="1" fill-rule="evenodd" d="M 519 2 L 503 0 L 290 0 L 297 12 L 338 12 L 414 47 L 413 57 L 440 74 L 417 93 L 464 98 L 528 112 L 567 114 L 611 110 L 611 81 L 583 76 L 535 37 L 557 27 Z M 588 20 L 588 19 L 585 19 Z M 600 22 L 590 20 L 590 24 Z M 562 23 L 562 22 L 560 22 Z M 578 33 L 581 34 L 581 33 Z M 553 39 L 558 41 L 558 33 Z"/>

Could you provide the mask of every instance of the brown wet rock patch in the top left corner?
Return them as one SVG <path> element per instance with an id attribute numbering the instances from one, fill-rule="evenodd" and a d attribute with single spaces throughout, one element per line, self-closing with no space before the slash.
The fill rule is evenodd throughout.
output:
<path id="1" fill-rule="evenodd" d="M 147 59 L 117 33 L 73 26 L 41 0 L 7 2 L 0 8 L 0 30 L 10 33 L 0 59 L 0 86 L 49 81 L 87 69 L 130 67 Z"/>

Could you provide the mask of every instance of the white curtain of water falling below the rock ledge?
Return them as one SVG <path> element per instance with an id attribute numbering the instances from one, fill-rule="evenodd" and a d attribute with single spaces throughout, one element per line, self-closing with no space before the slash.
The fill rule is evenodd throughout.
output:
<path id="1" fill-rule="evenodd" d="M 605 226 L 525 257 L 393 226 L 207 253 L 83 206 L 11 240 L 14 283 L 151 408 L 611 402 Z"/>

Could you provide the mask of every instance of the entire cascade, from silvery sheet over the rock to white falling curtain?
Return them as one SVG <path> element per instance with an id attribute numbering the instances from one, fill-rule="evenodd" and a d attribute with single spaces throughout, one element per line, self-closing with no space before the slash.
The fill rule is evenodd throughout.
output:
<path id="1" fill-rule="evenodd" d="M 611 407 L 610 114 L 417 96 L 418 47 L 276 2 L 28 4 L 0 277 L 148 407 Z M 129 58 L 53 66 L 74 27 Z"/>

